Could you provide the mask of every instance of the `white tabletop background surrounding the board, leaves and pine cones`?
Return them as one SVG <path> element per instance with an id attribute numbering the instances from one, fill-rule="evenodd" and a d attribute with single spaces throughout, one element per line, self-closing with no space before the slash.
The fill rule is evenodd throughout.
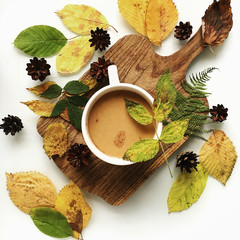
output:
<path id="1" fill-rule="evenodd" d="M 109 29 L 112 44 L 126 34 L 135 31 L 120 15 L 117 0 L 0 0 L 0 119 L 8 114 L 19 116 L 24 129 L 16 136 L 5 136 L 0 132 L 0 239 L 1 240 L 48 240 L 30 217 L 11 202 L 6 190 L 5 172 L 38 171 L 49 177 L 57 190 L 69 183 L 42 148 L 42 138 L 37 133 L 38 116 L 20 101 L 37 99 L 26 90 L 40 84 L 27 75 L 26 63 L 30 57 L 13 45 L 14 39 L 23 29 L 46 24 L 56 27 L 67 38 L 75 36 L 61 22 L 56 11 L 66 4 L 86 4 L 97 8 L 118 29 Z M 201 25 L 201 17 L 212 3 L 211 0 L 175 0 L 179 21 L 190 21 L 194 33 Z M 239 61 L 240 53 L 240 1 L 232 1 L 233 29 L 220 47 L 214 48 L 216 56 L 205 49 L 190 65 L 187 75 L 208 67 L 220 71 L 211 74 L 208 90 L 210 106 L 223 104 L 229 108 L 227 121 L 216 127 L 222 129 L 233 141 L 239 153 Z M 156 51 L 169 55 L 183 43 L 171 34 Z M 96 61 L 95 53 L 91 61 Z M 57 73 L 56 56 L 47 58 L 51 64 L 48 80 L 64 86 L 68 81 L 78 79 L 89 64 L 77 74 L 63 76 Z M 206 136 L 208 137 L 208 136 Z M 84 192 L 92 208 L 91 220 L 83 231 L 84 240 L 155 240 L 155 239 L 235 239 L 239 235 L 240 216 L 240 167 L 237 160 L 232 176 L 226 186 L 209 177 L 207 186 L 197 203 L 180 213 L 168 213 L 167 197 L 179 169 L 175 168 L 176 155 L 181 151 L 193 150 L 199 153 L 203 141 L 190 139 L 170 159 L 174 178 L 170 178 L 166 164 L 154 173 L 143 186 L 122 206 L 114 207 L 101 198 Z M 232 237 L 231 237 L 232 236 Z M 71 238 L 69 238 L 71 239 Z"/>

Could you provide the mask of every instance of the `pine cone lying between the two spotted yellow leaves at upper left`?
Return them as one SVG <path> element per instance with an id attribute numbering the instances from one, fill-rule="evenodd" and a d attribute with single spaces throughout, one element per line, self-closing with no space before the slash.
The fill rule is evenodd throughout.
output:
<path id="1" fill-rule="evenodd" d="M 91 39 L 89 42 L 91 42 L 91 47 L 95 46 L 95 50 L 105 50 L 106 47 L 108 47 L 111 44 L 110 36 L 107 33 L 107 31 L 104 31 L 102 28 L 98 28 L 93 31 L 91 30 Z"/>

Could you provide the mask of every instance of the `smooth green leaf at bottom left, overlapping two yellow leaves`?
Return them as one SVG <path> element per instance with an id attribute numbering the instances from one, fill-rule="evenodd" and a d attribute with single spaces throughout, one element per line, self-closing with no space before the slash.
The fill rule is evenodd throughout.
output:
<path id="1" fill-rule="evenodd" d="M 33 208 L 30 216 L 36 227 L 48 236 L 56 238 L 73 236 L 73 230 L 66 217 L 52 208 Z"/>

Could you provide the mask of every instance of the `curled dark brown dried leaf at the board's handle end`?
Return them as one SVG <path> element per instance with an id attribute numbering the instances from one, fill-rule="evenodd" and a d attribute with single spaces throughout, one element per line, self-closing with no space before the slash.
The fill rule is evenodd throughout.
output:
<path id="1" fill-rule="evenodd" d="M 232 29 L 231 0 L 214 1 L 202 18 L 204 42 L 210 46 L 220 46 Z"/>

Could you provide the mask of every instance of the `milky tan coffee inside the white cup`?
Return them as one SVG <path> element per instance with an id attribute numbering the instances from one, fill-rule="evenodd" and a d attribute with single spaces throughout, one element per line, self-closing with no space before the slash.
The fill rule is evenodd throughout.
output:
<path id="1" fill-rule="evenodd" d="M 120 90 L 102 96 L 88 119 L 90 137 L 96 147 L 106 155 L 120 158 L 133 143 L 153 138 L 155 133 L 153 124 L 143 126 L 129 116 L 124 98 L 142 104 L 151 112 L 151 106 L 143 97 Z"/>

